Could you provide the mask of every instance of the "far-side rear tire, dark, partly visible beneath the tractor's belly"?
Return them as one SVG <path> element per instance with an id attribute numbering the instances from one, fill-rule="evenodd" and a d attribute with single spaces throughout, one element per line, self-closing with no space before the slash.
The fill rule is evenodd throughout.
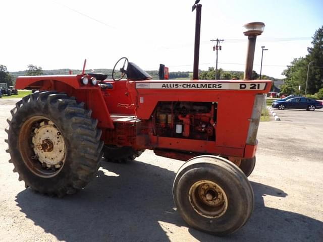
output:
<path id="1" fill-rule="evenodd" d="M 134 150 L 130 146 L 103 146 L 103 156 L 108 162 L 128 163 L 139 157 L 145 150 Z"/>

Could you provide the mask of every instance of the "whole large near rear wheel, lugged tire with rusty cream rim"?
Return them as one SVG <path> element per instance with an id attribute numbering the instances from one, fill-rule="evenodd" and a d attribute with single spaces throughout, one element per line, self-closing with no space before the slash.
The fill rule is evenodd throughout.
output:
<path id="1" fill-rule="evenodd" d="M 35 92 L 17 102 L 11 114 L 9 162 L 26 188 L 62 197 L 94 177 L 103 142 L 84 103 L 55 91 Z"/>

